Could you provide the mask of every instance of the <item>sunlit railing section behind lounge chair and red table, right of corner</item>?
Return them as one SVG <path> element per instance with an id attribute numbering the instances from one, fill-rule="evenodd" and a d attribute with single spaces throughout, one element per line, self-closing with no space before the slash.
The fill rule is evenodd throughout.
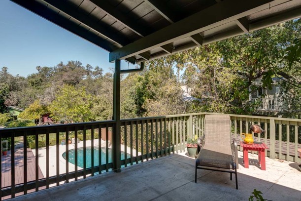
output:
<path id="1" fill-rule="evenodd" d="M 194 114 L 194 129 L 200 136 L 203 133 L 204 115 L 210 113 Z M 250 133 L 252 124 L 260 124 L 266 131 L 262 134 L 253 133 L 255 141 L 264 142 L 269 149 L 266 156 L 271 159 L 300 162 L 298 149 L 301 149 L 301 120 L 287 118 L 272 118 L 245 115 L 230 115 L 232 136 L 241 140 L 240 133 Z M 239 147 L 239 146 L 238 146 Z M 241 150 L 240 150 L 241 151 Z"/>

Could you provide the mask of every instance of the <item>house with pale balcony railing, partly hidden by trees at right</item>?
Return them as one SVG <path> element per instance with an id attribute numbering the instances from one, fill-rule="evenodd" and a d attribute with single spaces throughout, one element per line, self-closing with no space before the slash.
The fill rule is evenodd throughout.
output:
<path id="1" fill-rule="evenodd" d="M 282 102 L 280 100 L 280 86 L 278 84 L 279 78 L 273 78 L 272 88 L 267 89 L 262 87 L 261 79 L 255 80 L 254 84 L 259 86 L 257 90 L 250 90 L 249 101 L 260 101 L 261 104 L 253 115 L 280 117 Z"/>

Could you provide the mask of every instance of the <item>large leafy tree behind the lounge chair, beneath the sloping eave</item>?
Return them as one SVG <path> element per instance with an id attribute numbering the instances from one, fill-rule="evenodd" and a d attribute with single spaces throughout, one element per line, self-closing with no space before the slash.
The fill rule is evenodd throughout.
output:
<path id="1" fill-rule="evenodd" d="M 263 79 L 264 87 L 270 87 L 275 76 L 300 79 L 286 60 L 286 47 L 300 31 L 300 19 L 293 20 L 164 57 L 157 64 L 183 69 L 182 81 L 200 99 L 191 112 L 251 114 L 257 108 L 249 102 L 249 90 L 257 88 L 254 80 Z"/>

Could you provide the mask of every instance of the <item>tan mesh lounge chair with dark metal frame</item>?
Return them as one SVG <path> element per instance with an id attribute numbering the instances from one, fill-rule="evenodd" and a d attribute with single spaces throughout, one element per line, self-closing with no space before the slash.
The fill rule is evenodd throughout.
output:
<path id="1" fill-rule="evenodd" d="M 235 174 L 236 189 L 238 165 L 237 143 L 231 141 L 231 127 L 229 115 L 206 115 L 204 135 L 201 141 L 201 151 L 196 159 L 196 178 L 197 170 L 206 169 L 221 172 L 229 172 L 230 180 L 232 173 Z"/>

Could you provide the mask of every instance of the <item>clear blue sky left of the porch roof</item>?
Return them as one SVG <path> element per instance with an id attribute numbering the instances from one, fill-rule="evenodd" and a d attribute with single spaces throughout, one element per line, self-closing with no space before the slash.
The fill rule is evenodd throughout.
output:
<path id="1" fill-rule="evenodd" d="M 36 66 L 53 67 L 70 60 L 99 66 L 104 72 L 114 68 L 107 51 L 10 0 L 0 0 L 0 68 L 26 77 L 37 72 Z"/>

